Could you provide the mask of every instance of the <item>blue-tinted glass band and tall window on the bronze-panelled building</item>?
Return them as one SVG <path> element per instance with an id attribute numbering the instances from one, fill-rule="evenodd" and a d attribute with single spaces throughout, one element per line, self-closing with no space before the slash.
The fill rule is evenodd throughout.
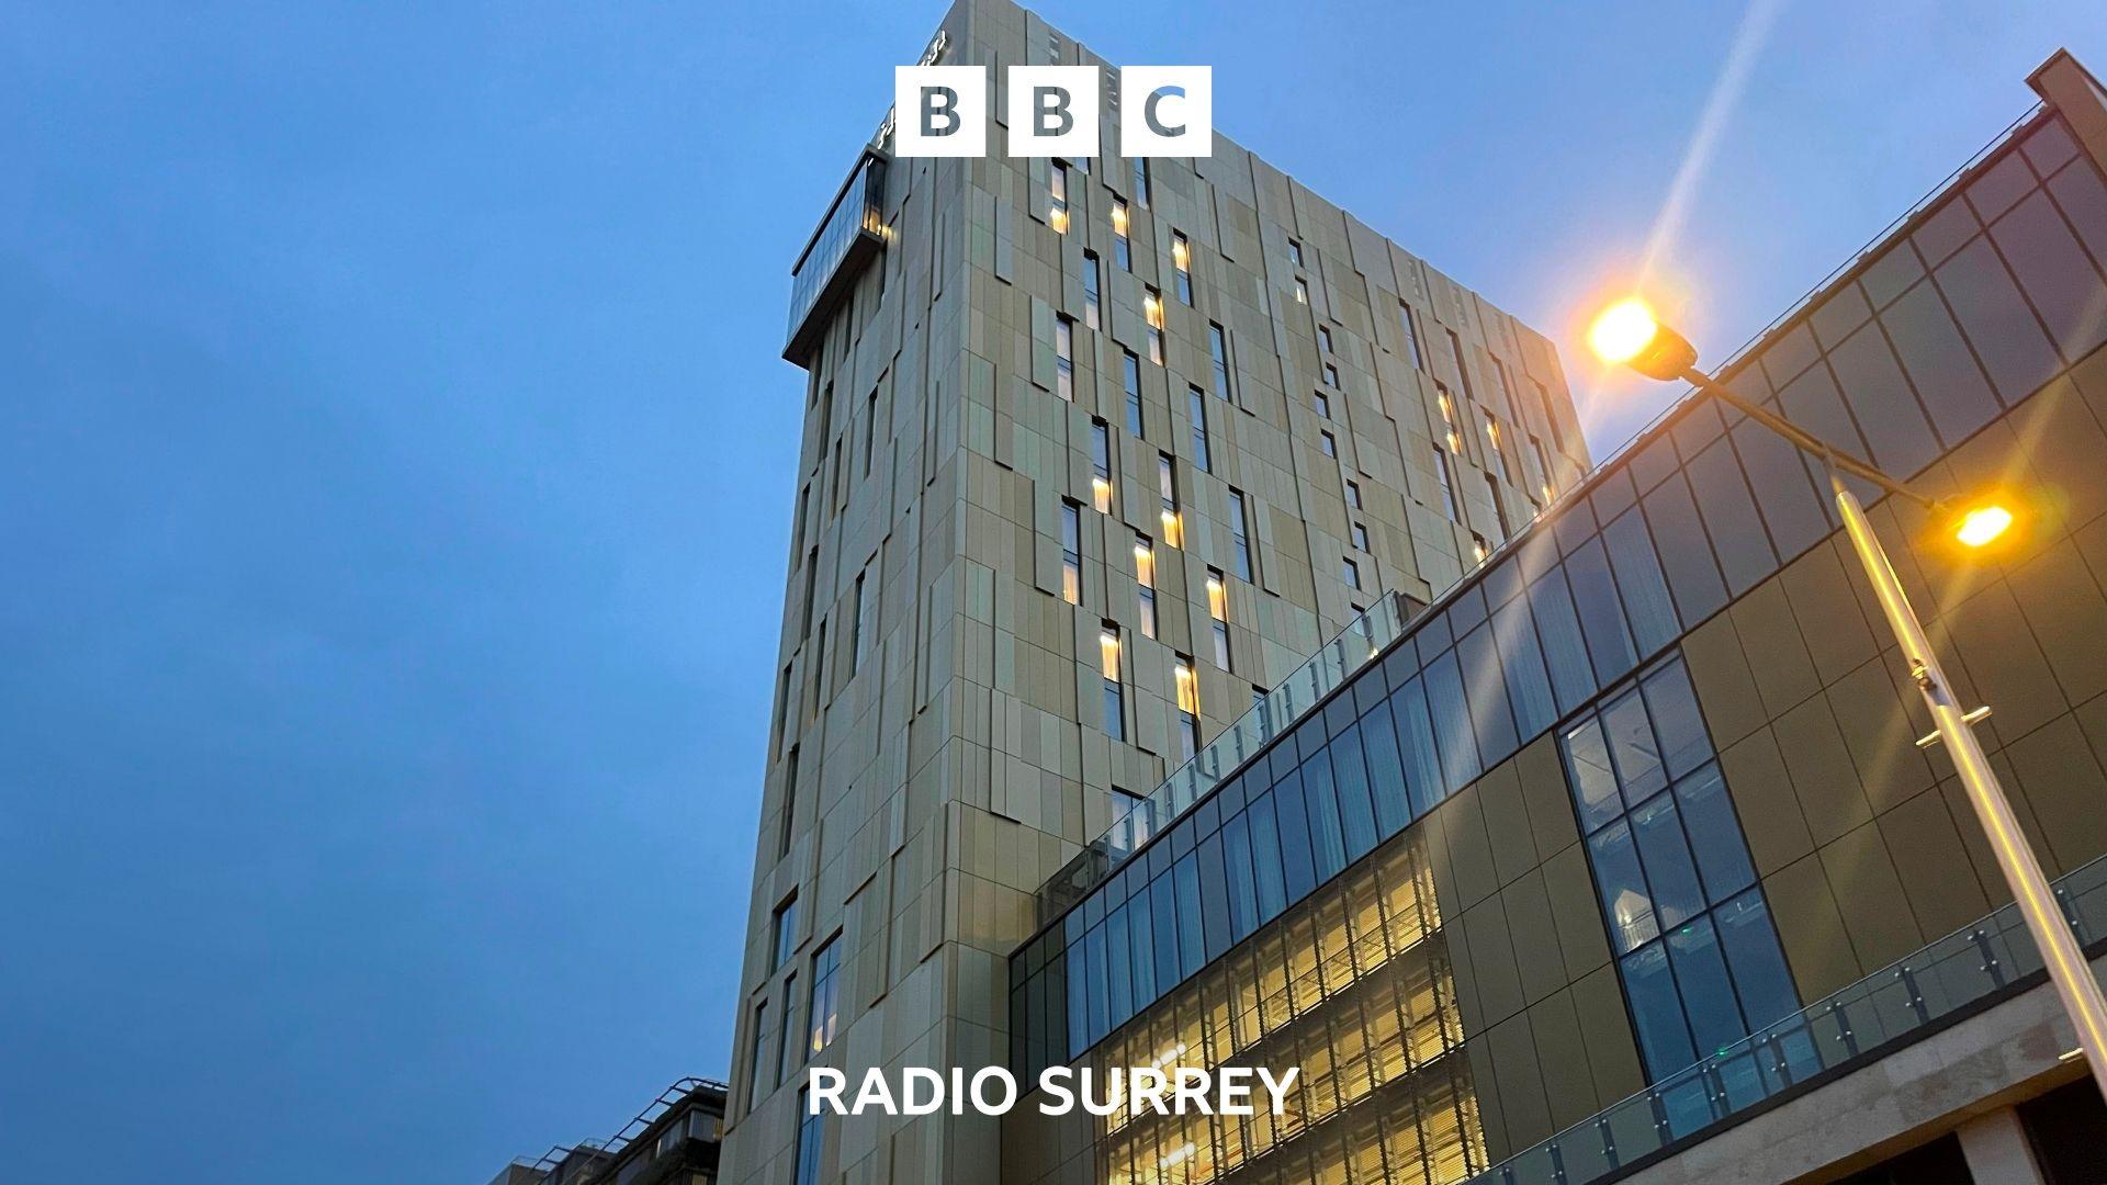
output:
<path id="1" fill-rule="evenodd" d="M 2107 280 L 2084 247 L 2107 247 L 2107 186 L 2069 150 L 2056 120 L 2040 120 L 2021 143 L 2023 164 L 2006 171 L 1995 202 L 1978 200 L 1981 181 L 1964 186 L 1804 320 L 1732 365 L 1728 382 L 1907 477 L 2107 337 L 2107 318 L 2044 316 L 2033 304 L 2037 287 L 2052 287 L 2054 302 L 2040 299 L 2040 308 L 2107 308 Z M 2063 261 L 2044 251 L 2063 251 Z M 1839 302 L 1846 310 L 1829 312 Z M 1875 323 L 1882 333 L 1860 337 Z M 1844 392 L 1860 399 L 1869 382 L 1890 382 L 1884 413 L 1892 403 L 1896 420 L 1922 415 L 1924 432 L 1894 424 L 1860 432 L 1863 417 Z M 1721 415 L 1709 399 L 1686 401 L 1418 616 L 1405 637 L 1382 643 L 1380 662 L 1355 673 L 1321 708 L 1285 730 L 1273 721 L 1254 757 L 1167 820 L 1129 827 L 1134 841 L 1112 846 L 1123 854 L 1011 957 L 1016 1061 L 1037 1073 L 1091 1050 L 1243 940 L 1243 921 L 1271 921 L 1559 719 L 1587 708 L 1584 721 L 1603 734 L 1601 753 L 1587 751 L 1597 770 L 1639 761 L 1639 727 L 1688 721 L 1656 717 L 1643 687 L 1601 706 L 1593 706 L 1595 696 L 1667 654 L 1833 525 L 1825 487 L 1789 445 Z M 1679 679 L 1679 666 L 1650 666 L 1641 683 L 1652 679 Z M 1574 719 L 1582 734 L 1584 721 Z M 1273 740 L 1277 732 L 1285 736 Z M 1593 740 L 1568 740 L 1566 751 L 1574 744 Z M 1643 886 L 1648 900 L 1631 913 L 1629 930 L 1612 926 L 1616 951 L 1629 959 L 1627 985 L 1658 1002 L 1658 1014 L 1673 1008 L 1679 1040 L 1694 1050 L 1732 1027 L 1747 1031 L 1789 999 L 1783 985 L 1766 983 L 1764 943 L 1751 938 L 1770 932 L 1761 898 L 1726 888 L 1738 881 L 1732 843 L 1724 843 L 1730 812 L 1709 740 L 1702 744 L 1702 761 L 1673 749 L 1677 774 L 1662 755 L 1660 772 L 1641 774 L 1637 789 L 1618 776 L 1614 791 L 1603 789 L 1599 772 L 1591 772 L 1595 784 L 1572 786 L 1597 877 L 1622 875 L 1627 886 Z M 1254 839 L 1260 814 L 1273 820 L 1271 839 Z M 1239 822 L 1243 839 L 1228 843 L 1224 833 Z M 1688 848 L 1688 869 L 1671 837 Z M 1249 860 L 1254 890 L 1279 883 L 1279 898 L 1256 892 L 1245 917 L 1207 892 L 1209 881 L 1228 883 L 1214 869 L 1230 858 Z M 1650 860 L 1662 867 L 1660 886 Z M 1245 879 L 1241 867 L 1235 879 Z M 1190 902 L 1180 886 L 1190 886 Z M 1161 913 L 1159 894 L 1169 902 Z M 1153 940 L 1180 953 L 1153 961 L 1146 976 L 1131 949 L 1108 938 L 1117 928 L 1131 943 L 1138 911 L 1167 921 Z M 1618 919 L 1616 907 L 1608 917 Z M 1732 1021 L 1721 1002 L 1734 1006 Z M 1646 1025 L 1652 1004 L 1633 1012 Z M 1667 1035 L 1650 1052 L 1656 1073 L 1681 1050 L 1673 1025 L 1658 1031 Z"/>

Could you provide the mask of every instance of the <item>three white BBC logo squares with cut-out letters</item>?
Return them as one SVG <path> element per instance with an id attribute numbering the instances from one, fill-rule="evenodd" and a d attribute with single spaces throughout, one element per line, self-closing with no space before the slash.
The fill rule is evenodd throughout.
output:
<path id="1" fill-rule="evenodd" d="M 1098 156 L 1100 70 L 1011 65 L 1009 156 Z M 986 156 L 988 72 L 980 65 L 893 67 L 893 156 Z M 1214 67 L 1119 70 L 1121 156 L 1212 156 Z"/>

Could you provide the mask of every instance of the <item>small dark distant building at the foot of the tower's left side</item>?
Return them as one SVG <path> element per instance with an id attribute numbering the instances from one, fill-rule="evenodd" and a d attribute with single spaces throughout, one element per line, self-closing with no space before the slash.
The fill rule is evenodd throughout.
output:
<path id="1" fill-rule="evenodd" d="M 514 1160 L 491 1185 L 716 1185 L 727 1086 L 683 1077 L 613 1139 Z"/>

